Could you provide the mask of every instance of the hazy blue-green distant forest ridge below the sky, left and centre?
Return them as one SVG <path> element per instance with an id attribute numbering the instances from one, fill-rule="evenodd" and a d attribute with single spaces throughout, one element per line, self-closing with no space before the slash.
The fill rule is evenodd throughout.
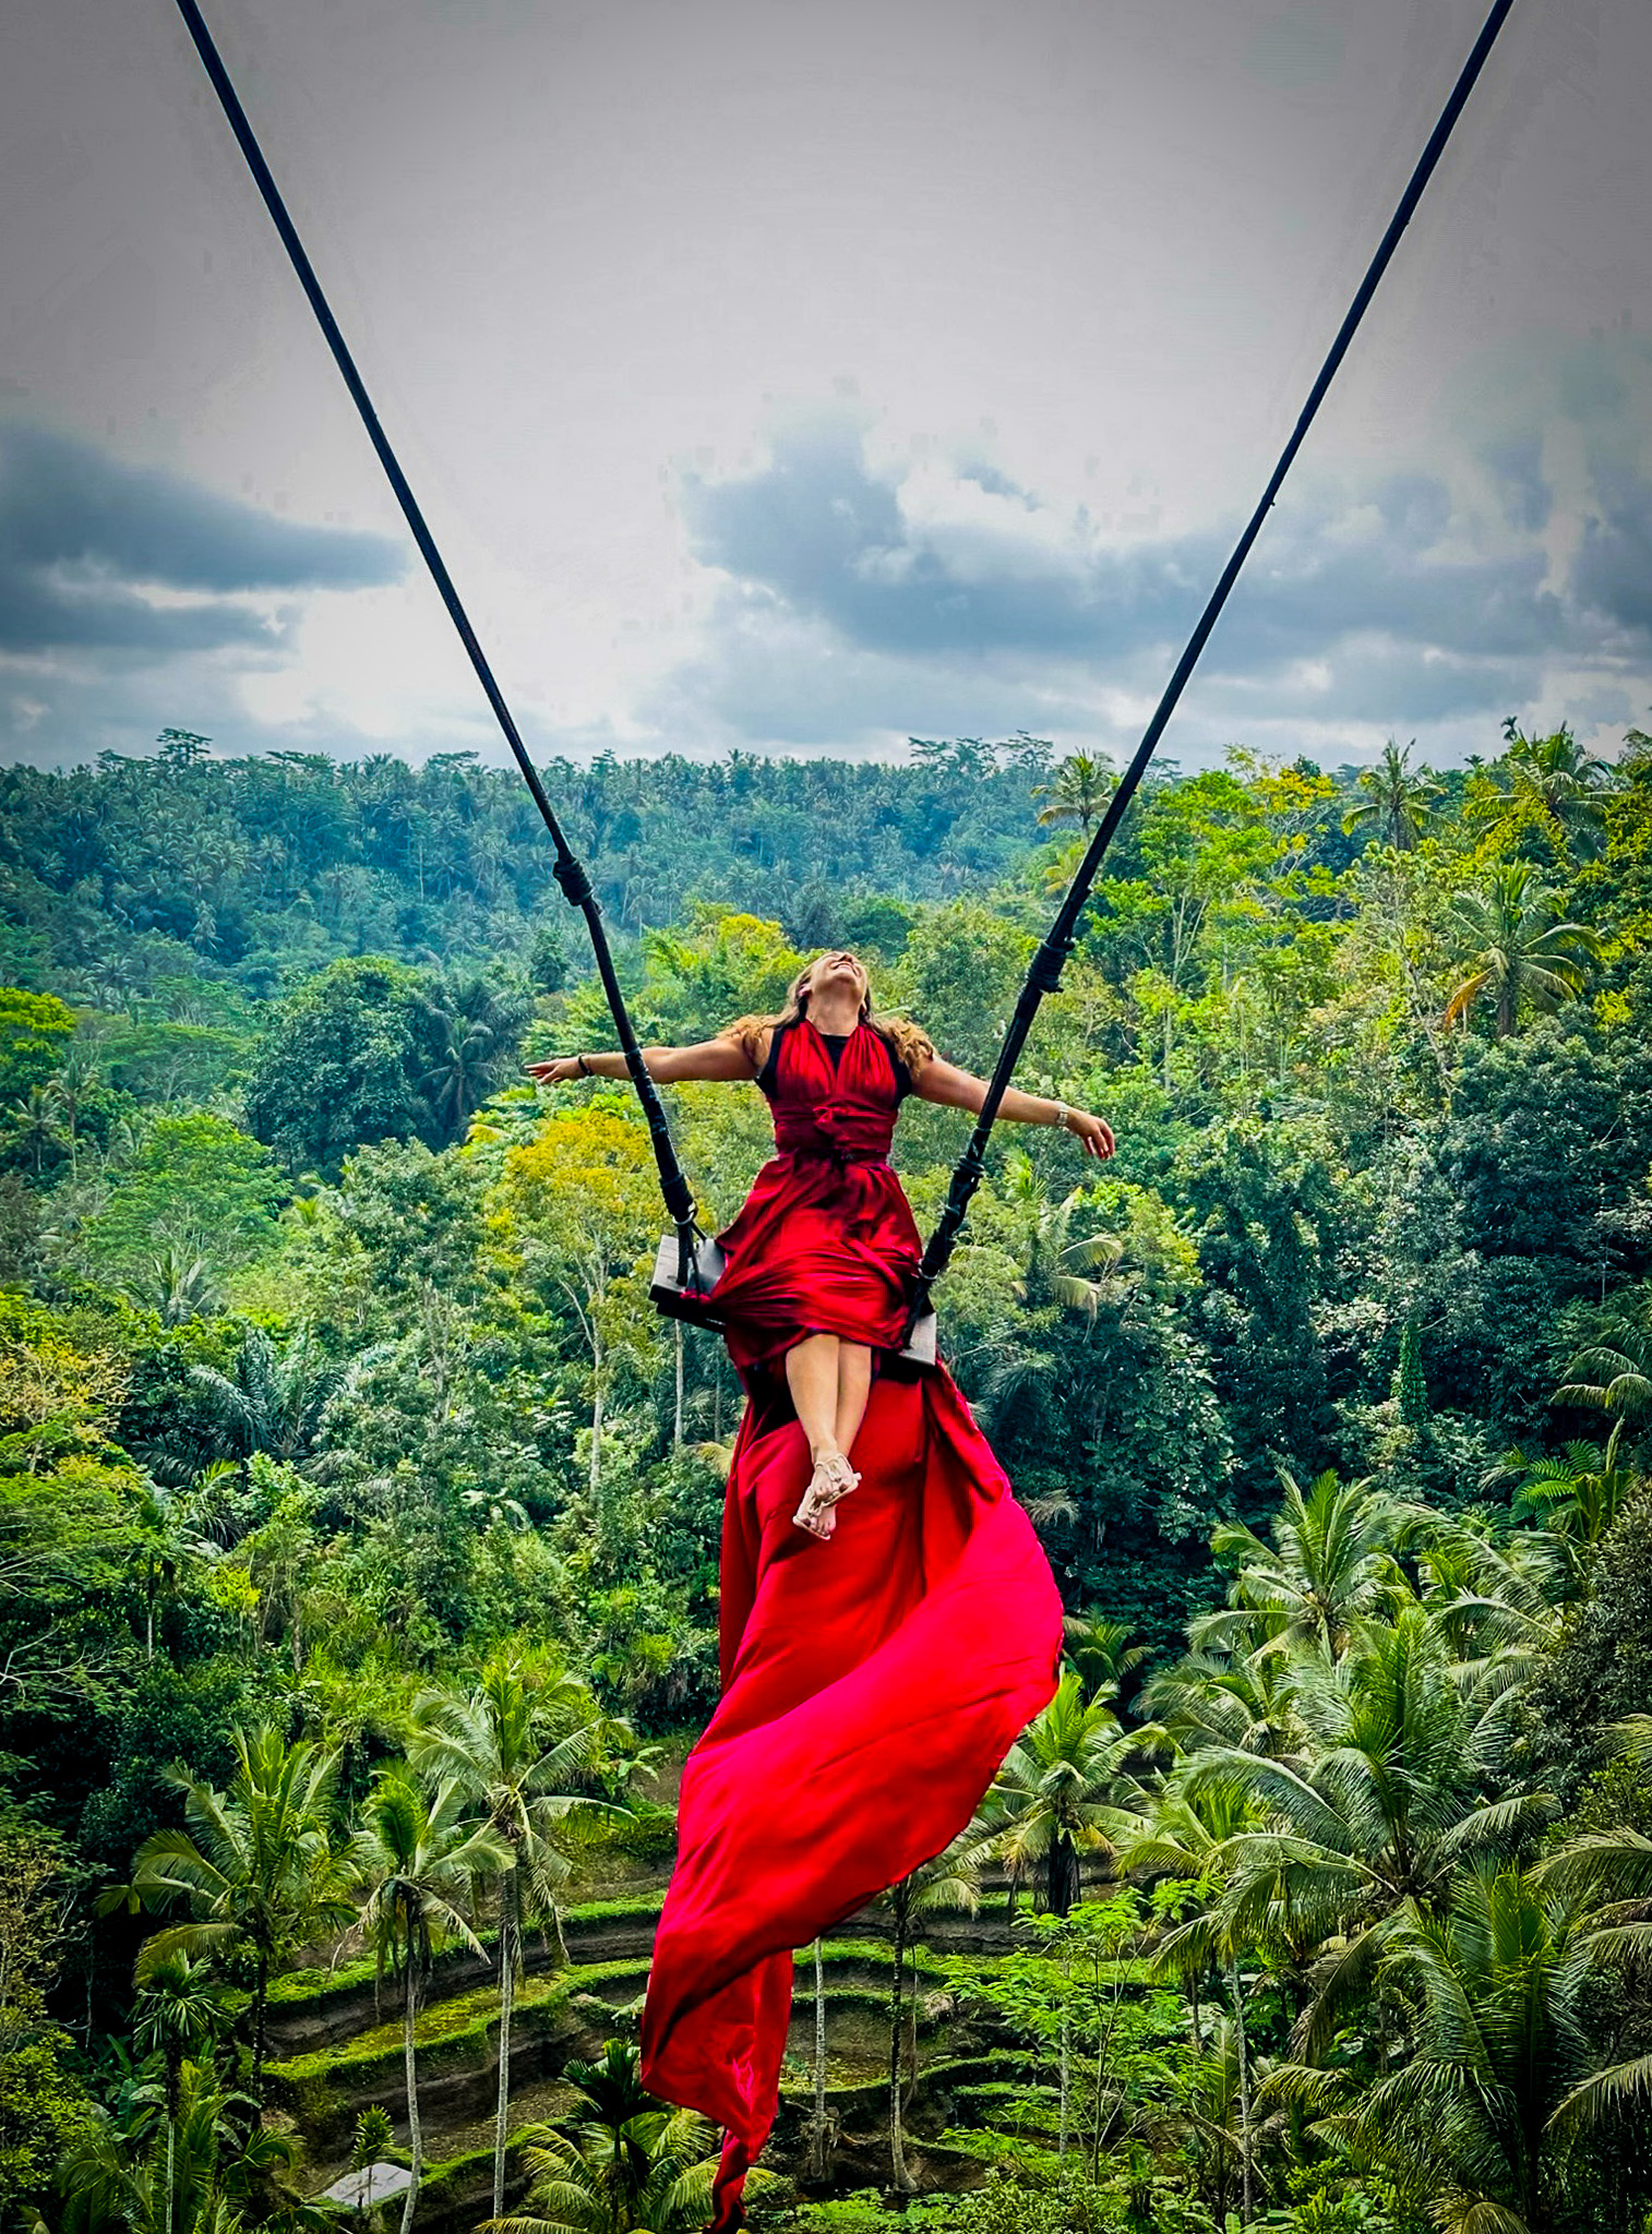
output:
<path id="1" fill-rule="evenodd" d="M 604 753 L 543 775 L 619 932 L 680 923 L 693 896 L 798 945 L 899 952 L 890 898 L 1004 876 L 1039 838 L 1053 760 L 1033 737 L 914 739 L 901 766 Z M 474 753 L 219 760 L 168 731 L 152 757 L 0 773 L 0 976 L 118 1008 L 197 976 L 264 999 L 344 954 L 525 956 L 532 925 L 566 920 L 552 860 L 519 775 Z"/>

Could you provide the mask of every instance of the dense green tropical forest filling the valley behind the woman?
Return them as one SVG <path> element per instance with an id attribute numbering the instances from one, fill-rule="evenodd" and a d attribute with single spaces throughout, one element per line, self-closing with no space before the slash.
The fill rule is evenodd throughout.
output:
<path id="1" fill-rule="evenodd" d="M 1113 782 L 545 773 L 644 1039 L 843 943 L 977 1070 Z M 4 2227 L 704 2221 L 630 2042 L 740 1390 L 630 1095 L 521 1081 L 613 1043 L 550 865 L 472 755 L 0 773 Z M 1022 1081 L 1118 1157 L 1001 1128 L 937 1298 L 1069 1671 L 800 1957 L 753 2212 L 1636 2234 L 1652 737 L 1234 751 L 1107 871 Z M 666 1099 L 724 1220 L 762 1104 Z"/>

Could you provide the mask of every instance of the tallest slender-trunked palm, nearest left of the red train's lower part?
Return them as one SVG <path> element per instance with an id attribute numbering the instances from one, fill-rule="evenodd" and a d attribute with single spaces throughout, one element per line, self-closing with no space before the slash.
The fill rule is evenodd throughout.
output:
<path id="1" fill-rule="evenodd" d="M 557 1926 L 557 1888 L 570 1863 L 557 1834 L 577 1814 L 624 1814 L 613 1801 L 581 1794 L 599 1756 L 628 1731 L 604 1720 L 577 1678 L 512 1651 L 494 1653 L 467 1696 L 427 1691 L 414 1702 L 407 1758 L 436 1783 L 452 1783 L 505 1854 L 499 1870 L 499 2111 L 494 2120 L 494 2218 L 505 2209 L 510 2136 L 510 2022 L 528 1915 Z"/>

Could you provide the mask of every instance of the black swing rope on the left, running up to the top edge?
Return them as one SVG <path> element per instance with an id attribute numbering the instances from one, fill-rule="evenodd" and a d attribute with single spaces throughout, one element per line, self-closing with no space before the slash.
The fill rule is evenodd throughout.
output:
<path id="1" fill-rule="evenodd" d="M 322 293 L 322 281 L 315 277 L 315 266 L 304 252 L 304 241 L 297 237 L 297 226 L 293 223 L 288 208 L 282 201 L 282 190 L 275 183 L 270 165 L 264 161 L 264 150 L 259 147 L 257 134 L 248 123 L 246 109 L 241 107 L 241 98 L 235 92 L 235 83 L 230 80 L 228 69 L 224 67 L 224 56 L 212 45 L 212 34 L 208 31 L 201 9 L 194 4 L 194 0 L 177 0 L 177 7 L 190 38 L 194 40 L 194 51 L 201 56 L 201 67 L 212 80 L 212 92 L 219 96 L 219 107 L 224 109 L 230 132 L 235 134 L 241 154 L 246 156 L 246 168 L 253 172 L 253 183 L 264 197 L 264 208 L 270 212 L 270 221 L 282 237 L 282 248 L 286 248 L 288 261 L 297 273 L 297 284 L 304 288 L 304 295 L 308 297 L 308 306 L 315 313 L 315 324 L 322 328 L 326 346 L 333 351 L 333 362 L 344 375 L 344 386 L 351 391 L 351 402 L 355 404 L 362 418 L 362 427 L 367 427 L 367 440 L 378 451 L 378 462 L 384 467 L 384 476 L 391 489 L 396 491 L 396 503 L 402 507 L 402 516 L 414 534 L 414 543 L 418 543 L 425 565 L 431 572 L 431 581 L 440 592 L 443 605 L 447 605 L 447 614 L 454 628 L 458 630 L 458 641 L 469 652 L 469 663 L 476 668 L 476 679 L 481 681 L 483 693 L 487 695 L 487 704 L 494 708 L 494 719 L 505 733 L 505 744 L 516 755 L 516 766 L 521 768 L 523 782 L 534 795 L 534 806 L 545 820 L 545 829 L 550 831 L 550 842 L 557 847 L 557 867 L 552 873 L 561 885 L 568 905 L 577 907 L 586 918 L 586 927 L 590 932 L 590 945 L 597 956 L 597 974 L 601 976 L 601 990 L 608 996 L 608 1008 L 615 1019 L 619 1046 L 626 1057 L 626 1070 L 630 1072 L 630 1081 L 637 1088 L 642 1113 L 648 1119 L 648 1137 L 653 1139 L 655 1164 L 659 1166 L 659 1186 L 664 1191 L 671 1220 L 677 1226 L 680 1278 L 682 1285 L 689 1287 L 693 1276 L 693 1242 L 697 1238 L 693 1195 L 689 1193 L 689 1182 L 682 1175 L 677 1151 L 671 1146 L 671 1128 L 666 1124 L 666 1113 L 659 1104 L 659 1090 L 655 1088 L 655 1081 L 648 1077 L 648 1070 L 642 1059 L 642 1048 L 637 1046 L 637 1034 L 630 1028 L 630 1012 L 626 1010 L 626 996 L 621 994 L 619 978 L 615 976 L 615 958 L 608 952 L 608 934 L 601 927 L 601 907 L 597 905 L 597 894 L 592 891 L 590 878 L 586 876 L 586 869 L 575 856 L 572 847 L 568 844 L 568 838 L 563 836 L 563 829 L 557 822 L 552 804 L 545 798 L 545 786 L 539 782 L 539 771 L 528 757 L 528 746 L 521 742 L 521 733 L 516 731 L 516 722 L 510 713 L 510 706 L 505 704 L 505 695 L 494 679 L 494 670 L 490 668 L 487 655 L 483 652 L 476 639 L 476 630 L 469 626 L 469 614 L 465 612 L 458 590 L 454 588 L 454 576 L 447 572 L 443 554 L 436 550 L 436 538 L 429 532 L 425 514 L 418 509 L 418 498 L 414 496 L 407 474 L 402 471 L 400 460 L 389 445 L 389 436 L 380 424 L 378 411 L 373 409 L 373 400 L 367 393 L 367 384 L 360 371 L 355 369 L 355 357 L 351 357 L 349 344 L 340 333 L 338 319 L 333 317 L 333 308 L 326 295 Z"/>

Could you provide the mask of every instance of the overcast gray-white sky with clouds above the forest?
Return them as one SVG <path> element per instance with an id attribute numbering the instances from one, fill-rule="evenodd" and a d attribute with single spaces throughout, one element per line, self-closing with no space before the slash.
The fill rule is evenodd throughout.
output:
<path id="1" fill-rule="evenodd" d="M 1482 0 L 203 0 L 539 751 L 1127 753 Z M 1516 0 L 1165 751 L 1652 704 L 1652 7 Z M 501 748 L 170 0 L 7 0 L 0 755 Z"/>

